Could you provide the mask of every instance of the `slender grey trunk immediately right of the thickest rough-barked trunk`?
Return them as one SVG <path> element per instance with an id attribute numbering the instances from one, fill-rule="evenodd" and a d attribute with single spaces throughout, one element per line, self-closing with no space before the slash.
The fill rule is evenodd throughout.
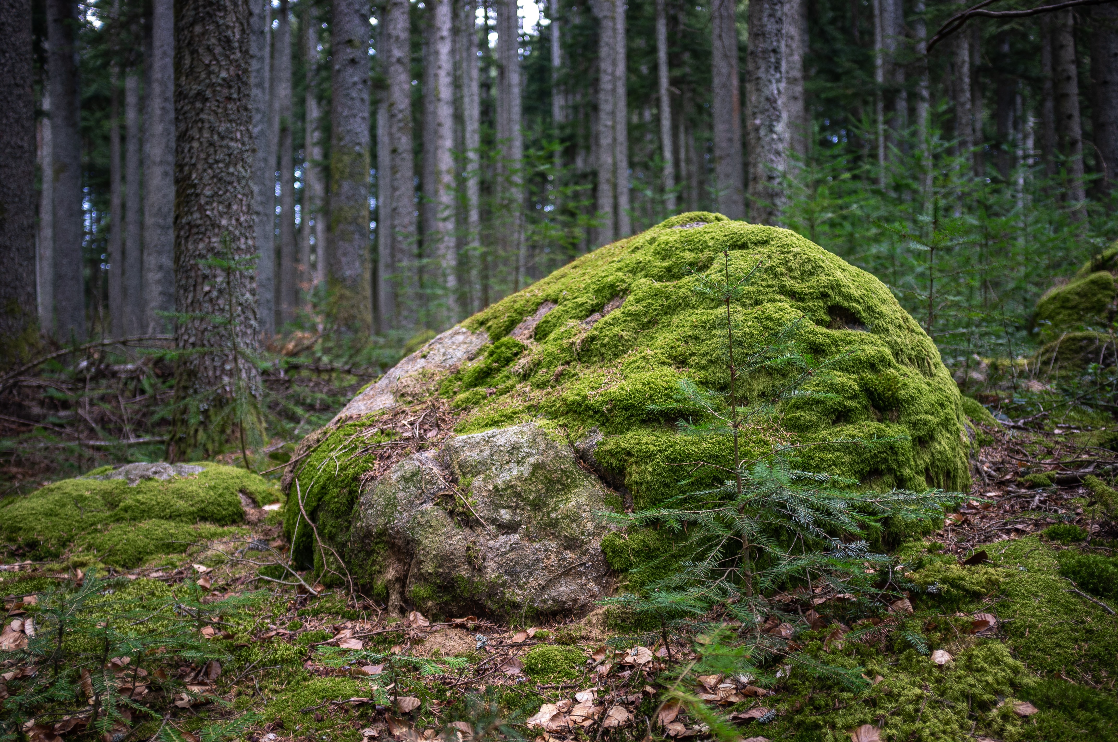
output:
<path id="1" fill-rule="evenodd" d="M 275 334 L 275 150 L 269 149 L 272 2 L 249 0 L 253 106 L 253 236 L 260 339 Z"/>

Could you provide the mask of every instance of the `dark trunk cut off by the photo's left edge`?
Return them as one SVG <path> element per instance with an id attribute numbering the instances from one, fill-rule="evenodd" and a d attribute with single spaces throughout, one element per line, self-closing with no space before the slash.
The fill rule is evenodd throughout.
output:
<path id="1" fill-rule="evenodd" d="M 0 368 L 38 344 L 35 307 L 35 93 L 31 2 L 0 6 Z"/>

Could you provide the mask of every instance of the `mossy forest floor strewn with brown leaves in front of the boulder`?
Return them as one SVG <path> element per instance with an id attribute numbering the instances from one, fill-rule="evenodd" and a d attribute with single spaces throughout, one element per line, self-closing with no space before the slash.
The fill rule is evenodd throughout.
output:
<path id="1" fill-rule="evenodd" d="M 221 735 L 220 722 L 233 719 L 245 723 L 234 736 L 250 742 L 709 739 L 719 731 L 710 716 L 665 703 L 665 691 L 686 677 L 686 691 L 728 715 L 738 739 L 1118 740 L 1112 601 L 1058 573 L 1062 552 L 1115 555 L 1114 524 L 1092 515 L 1078 479 L 1107 470 L 1118 457 L 1091 448 L 1095 431 L 1048 428 L 983 430 L 974 498 L 944 530 L 898 551 L 912 570 L 906 574 L 911 619 L 843 596 L 771 598 L 785 610 L 802 602 L 805 625 L 788 630 L 759 621 L 751 630 L 780 632 L 788 651 L 856 663 L 874 678 L 868 688 L 798 678 L 780 673 L 779 663 L 767 678 L 681 675 L 702 659 L 701 635 L 642 631 L 607 609 L 542 626 L 440 621 L 417 612 L 389 616 L 344 589 L 277 584 L 259 577 L 276 574 L 269 569 L 286 561 L 277 514 L 269 514 L 250 535 L 201 544 L 177 567 L 98 575 L 111 580 L 101 593 L 106 615 L 134 600 L 179 610 L 190 590 L 217 611 L 199 629 L 212 659 L 152 651 L 138 653 L 131 666 L 127 657 L 114 660 L 113 682 L 134 696 L 125 710 L 132 725 L 105 739 L 210 742 Z M 1023 482 L 1053 469 L 1064 473 L 1058 481 L 1065 484 Z M 1054 524 L 1077 525 L 1093 539 L 1061 543 L 1038 535 Z M 79 570 L 59 572 L 58 564 L 0 570 L 9 639 L 19 638 L 11 621 L 34 615 L 55 587 L 82 579 Z M 935 580 L 921 579 L 928 574 Z M 195 617 L 201 615 L 198 609 Z M 926 646 L 903 638 L 902 622 L 911 620 Z M 866 632 L 874 627 L 881 630 Z M 844 640 L 846 634 L 859 638 Z M 146 682 L 130 674 L 139 663 Z M 7 660 L 3 678 L 13 684 L 11 676 L 27 667 Z M 42 716 L 25 731 L 34 742 L 80 739 L 88 715 Z"/>

